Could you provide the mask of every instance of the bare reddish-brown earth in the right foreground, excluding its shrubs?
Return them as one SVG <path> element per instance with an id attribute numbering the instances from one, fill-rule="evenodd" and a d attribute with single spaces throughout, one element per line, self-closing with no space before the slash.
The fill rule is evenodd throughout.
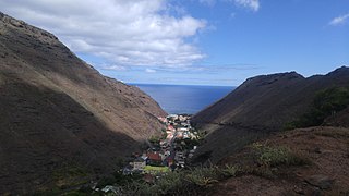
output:
<path id="1" fill-rule="evenodd" d="M 277 134 L 258 144 L 273 148 L 286 147 L 308 159 L 305 166 L 276 166 L 274 175 L 241 174 L 216 184 L 207 195 L 348 195 L 349 194 L 349 130 L 310 127 Z M 222 164 L 256 166 L 254 148 L 226 158 Z"/>

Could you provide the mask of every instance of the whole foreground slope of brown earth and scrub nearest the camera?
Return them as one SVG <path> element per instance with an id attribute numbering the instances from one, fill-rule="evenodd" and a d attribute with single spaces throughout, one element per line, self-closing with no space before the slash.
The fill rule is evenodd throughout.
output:
<path id="1" fill-rule="evenodd" d="M 146 171 L 152 169 L 152 164 L 154 162 L 143 169 L 139 168 L 141 172 L 134 171 L 132 175 L 115 173 L 112 181 L 101 180 L 98 183 L 99 189 L 87 187 L 85 189 L 87 192 L 84 192 L 80 187 L 80 191 L 69 193 L 347 196 L 349 195 L 349 128 L 317 126 L 277 133 L 246 146 L 217 166 L 185 167 L 173 172 L 167 168 L 164 173 Z M 149 174 L 153 177 L 149 179 Z"/>

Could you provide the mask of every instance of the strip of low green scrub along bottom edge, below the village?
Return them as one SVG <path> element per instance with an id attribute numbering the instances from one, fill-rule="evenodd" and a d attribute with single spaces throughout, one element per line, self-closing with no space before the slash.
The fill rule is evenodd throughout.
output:
<path id="1" fill-rule="evenodd" d="M 146 182 L 142 174 L 122 175 L 116 172 L 113 175 L 104 177 L 96 187 L 101 189 L 107 185 L 118 187 L 117 195 L 197 195 L 205 188 L 228 177 L 236 176 L 239 168 L 225 167 L 195 167 L 174 172 L 167 172 L 153 182 Z M 115 193 L 109 193 L 113 195 Z M 67 193 L 67 195 L 100 195 L 92 189 L 81 188 Z"/>

